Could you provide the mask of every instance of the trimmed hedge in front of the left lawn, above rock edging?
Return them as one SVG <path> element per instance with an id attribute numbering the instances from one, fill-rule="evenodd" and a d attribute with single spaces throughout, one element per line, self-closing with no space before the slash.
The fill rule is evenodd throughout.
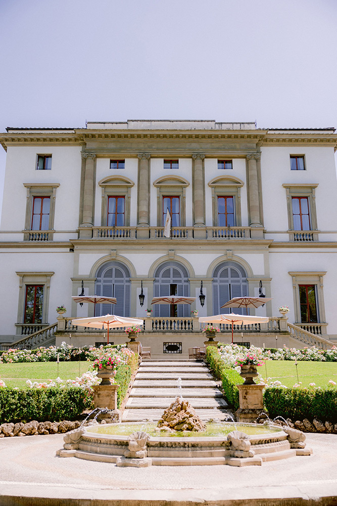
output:
<path id="1" fill-rule="evenodd" d="M 88 409 L 91 399 L 78 387 L 65 389 L 0 389 L 0 423 L 74 420 Z"/>

